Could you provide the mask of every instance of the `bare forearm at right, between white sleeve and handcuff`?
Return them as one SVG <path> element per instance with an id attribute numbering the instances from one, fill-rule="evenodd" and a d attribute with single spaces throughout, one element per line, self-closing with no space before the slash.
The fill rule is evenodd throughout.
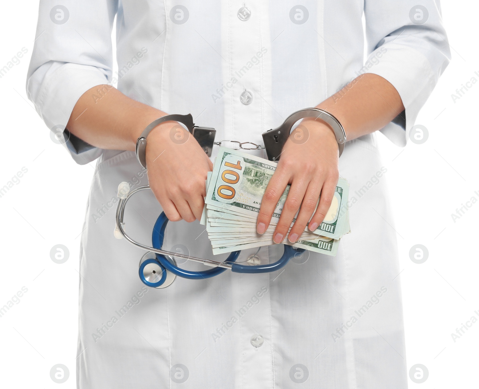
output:
<path id="1" fill-rule="evenodd" d="M 380 130 L 404 110 L 398 91 L 372 73 L 355 78 L 316 108 L 332 113 L 341 122 L 347 140 Z"/>

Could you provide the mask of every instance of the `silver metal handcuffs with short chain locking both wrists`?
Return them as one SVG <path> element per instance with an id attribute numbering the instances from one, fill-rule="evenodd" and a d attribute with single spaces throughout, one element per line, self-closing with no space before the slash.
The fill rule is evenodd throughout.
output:
<path id="1" fill-rule="evenodd" d="M 213 151 L 213 145 L 221 145 L 223 142 L 230 142 L 237 144 L 235 150 L 260 150 L 264 148 L 266 150 L 266 155 L 270 161 L 278 161 L 283 150 L 291 129 L 295 123 L 303 118 L 312 117 L 315 119 L 321 119 L 332 128 L 334 135 L 336 137 L 336 142 L 338 142 L 339 155 L 341 156 L 342 151 L 344 150 L 344 144 L 346 143 L 346 133 L 342 124 L 328 111 L 321 110 L 319 108 L 305 108 L 296 112 L 293 112 L 289 115 L 286 120 L 279 127 L 273 128 L 262 133 L 264 147 L 255 144 L 252 142 L 242 142 L 239 141 L 230 141 L 228 139 L 222 139 L 219 142 L 215 142 L 216 130 L 211 127 L 200 127 L 194 124 L 193 116 L 191 113 L 187 115 L 166 115 L 162 116 L 159 119 L 156 119 L 154 122 L 151 122 L 147 128 L 141 133 L 137 140 L 136 154 L 139 163 L 143 167 L 147 167 L 146 162 L 146 147 L 147 147 L 147 136 L 148 134 L 159 124 L 163 122 L 175 121 L 182 123 L 196 139 L 201 148 L 205 151 L 207 156 L 211 156 Z M 252 146 L 252 147 L 251 147 Z"/>

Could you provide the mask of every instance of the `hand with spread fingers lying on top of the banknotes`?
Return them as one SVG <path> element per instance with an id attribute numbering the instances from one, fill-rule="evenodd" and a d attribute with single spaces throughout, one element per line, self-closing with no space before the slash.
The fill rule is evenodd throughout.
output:
<path id="1" fill-rule="evenodd" d="M 288 235 L 291 243 L 298 240 L 321 195 L 318 209 L 309 222 L 309 230 L 316 230 L 331 206 L 339 178 L 338 160 L 338 143 L 331 127 L 312 118 L 303 120 L 286 141 L 278 167 L 263 195 L 256 225 L 258 233 L 268 228 L 287 184 L 291 184 L 291 188 L 273 234 L 274 243 L 283 241 L 301 207 Z"/>

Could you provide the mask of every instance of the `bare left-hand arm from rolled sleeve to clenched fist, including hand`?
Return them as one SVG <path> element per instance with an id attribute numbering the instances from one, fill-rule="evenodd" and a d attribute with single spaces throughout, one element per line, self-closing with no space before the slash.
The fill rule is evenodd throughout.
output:
<path id="1" fill-rule="evenodd" d="M 105 91 L 94 100 L 98 89 Z M 125 96 L 111 85 L 88 89 L 75 104 L 67 128 L 85 142 L 109 150 L 135 150 L 138 136 L 165 112 Z M 164 122 L 148 135 L 148 180 L 171 221 L 193 222 L 203 212 L 206 174 L 213 164 L 178 122 Z"/>

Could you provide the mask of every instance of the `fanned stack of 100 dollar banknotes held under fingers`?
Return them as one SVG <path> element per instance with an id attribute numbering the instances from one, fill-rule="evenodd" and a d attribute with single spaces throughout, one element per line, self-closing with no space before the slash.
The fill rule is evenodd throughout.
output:
<path id="1" fill-rule="evenodd" d="M 265 233 L 256 232 L 261 200 L 277 163 L 227 147 L 220 147 L 213 171 L 206 180 L 205 208 L 201 224 L 206 226 L 213 254 L 273 245 L 273 233 L 285 203 L 289 185 L 278 201 Z M 285 245 L 335 256 L 342 235 L 350 233 L 349 184 L 340 178 L 331 207 L 315 231 L 308 226 L 296 243 Z M 296 219 L 293 219 L 293 223 Z M 291 224 L 291 226 L 293 225 Z"/>

